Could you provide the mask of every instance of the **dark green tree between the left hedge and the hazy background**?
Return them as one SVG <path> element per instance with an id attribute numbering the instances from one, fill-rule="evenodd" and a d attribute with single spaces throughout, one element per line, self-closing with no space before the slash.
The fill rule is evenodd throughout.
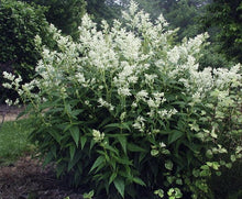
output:
<path id="1" fill-rule="evenodd" d="M 74 38 L 78 35 L 78 26 L 81 16 L 86 12 L 85 0 L 21 0 L 34 2 L 37 5 L 47 8 L 45 12 L 46 20 L 53 23 L 64 34 L 72 35 Z"/>

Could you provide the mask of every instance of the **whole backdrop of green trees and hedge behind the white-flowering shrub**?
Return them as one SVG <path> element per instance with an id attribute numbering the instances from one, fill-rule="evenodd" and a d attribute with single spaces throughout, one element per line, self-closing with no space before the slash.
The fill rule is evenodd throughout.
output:
<path id="1" fill-rule="evenodd" d="M 36 60 L 40 58 L 40 53 L 34 47 L 34 36 L 38 34 L 45 45 L 54 46 L 52 41 L 46 38 L 48 37 L 46 34 L 47 23 L 53 23 L 65 35 L 72 35 L 76 40 L 78 25 L 85 12 L 89 13 L 100 27 L 102 19 L 108 23 L 111 23 L 112 19 L 120 19 L 121 10 L 125 10 L 130 3 L 130 0 L 21 1 L 24 2 L 24 5 L 14 0 L 1 1 L 0 71 L 12 70 L 21 74 L 24 81 L 33 76 Z M 141 9 L 151 13 L 153 21 L 160 13 L 163 13 L 170 29 L 179 29 L 175 43 L 180 42 L 184 37 L 202 33 L 205 30 L 209 32 L 209 41 L 212 45 L 205 46 L 201 51 L 204 55 L 199 60 L 201 69 L 209 66 L 212 68 L 224 65 L 229 67 L 232 66 L 231 62 L 241 62 L 242 14 L 239 0 L 136 1 Z M 8 8 L 7 4 L 9 4 Z M 14 14 L 13 10 L 18 14 Z M 7 96 L 14 96 L 2 87 L 0 89 L 1 102 L 6 100 Z"/>

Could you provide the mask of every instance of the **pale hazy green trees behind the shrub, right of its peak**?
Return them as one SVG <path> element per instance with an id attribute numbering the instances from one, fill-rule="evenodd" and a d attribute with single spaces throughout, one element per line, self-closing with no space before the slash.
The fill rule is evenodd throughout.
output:
<path id="1" fill-rule="evenodd" d="M 178 41 L 201 33 L 198 19 L 205 11 L 209 0 L 136 0 L 142 9 L 156 19 L 161 13 L 170 24 L 170 29 L 179 27 Z"/>

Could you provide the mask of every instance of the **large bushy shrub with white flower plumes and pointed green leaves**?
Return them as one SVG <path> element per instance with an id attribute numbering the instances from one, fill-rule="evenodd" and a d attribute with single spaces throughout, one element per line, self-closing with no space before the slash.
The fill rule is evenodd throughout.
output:
<path id="1" fill-rule="evenodd" d="M 241 66 L 199 71 L 207 34 L 173 46 L 164 18 L 134 2 L 123 19 L 97 31 L 85 15 L 78 42 L 51 26 L 59 51 L 43 48 L 31 82 L 4 73 L 4 86 L 29 103 L 57 176 L 109 198 L 210 198 L 207 179 L 241 158 Z"/>

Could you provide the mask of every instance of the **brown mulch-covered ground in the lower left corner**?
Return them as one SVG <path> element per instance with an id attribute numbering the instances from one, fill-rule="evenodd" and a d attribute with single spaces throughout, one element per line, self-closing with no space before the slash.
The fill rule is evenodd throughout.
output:
<path id="1" fill-rule="evenodd" d="M 30 156 L 0 167 L 0 199 L 82 199 L 80 191 L 57 180 L 53 166 L 42 167 Z"/>

